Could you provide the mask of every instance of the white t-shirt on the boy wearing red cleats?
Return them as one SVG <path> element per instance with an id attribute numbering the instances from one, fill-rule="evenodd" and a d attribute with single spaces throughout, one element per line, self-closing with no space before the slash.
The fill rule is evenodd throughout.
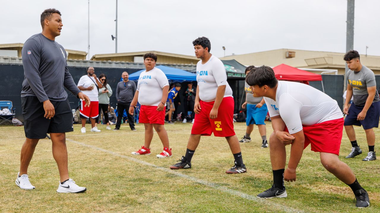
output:
<path id="1" fill-rule="evenodd" d="M 162 88 L 168 85 L 168 78 L 157 67 L 148 72 L 142 71 L 137 82 L 138 102 L 141 105 L 158 106 L 162 99 Z"/>

